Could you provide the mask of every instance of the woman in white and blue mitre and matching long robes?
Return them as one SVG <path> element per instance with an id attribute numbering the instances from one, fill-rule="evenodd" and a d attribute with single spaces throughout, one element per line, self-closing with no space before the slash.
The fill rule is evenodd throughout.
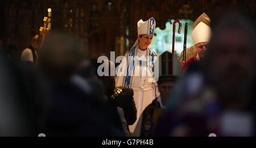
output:
<path id="1" fill-rule="evenodd" d="M 155 19 L 150 18 L 145 22 L 141 19 L 137 26 L 138 39 L 131 50 L 125 54 L 119 67 L 117 67 L 115 83 L 115 87 L 123 86 L 132 88 L 134 91 L 137 120 L 133 125 L 129 126 L 131 136 L 141 135 L 141 114 L 147 105 L 151 104 L 160 95 L 154 78 L 154 71 L 158 70 L 156 69 L 158 66 L 155 66 L 158 55 L 148 47 L 154 37 Z"/>

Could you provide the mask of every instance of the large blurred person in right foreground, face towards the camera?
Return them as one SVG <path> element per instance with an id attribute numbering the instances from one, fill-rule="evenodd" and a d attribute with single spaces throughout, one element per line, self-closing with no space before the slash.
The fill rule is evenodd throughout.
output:
<path id="1" fill-rule="evenodd" d="M 170 96 L 157 136 L 255 136 L 255 28 L 229 12 L 212 26 L 209 50 Z"/>

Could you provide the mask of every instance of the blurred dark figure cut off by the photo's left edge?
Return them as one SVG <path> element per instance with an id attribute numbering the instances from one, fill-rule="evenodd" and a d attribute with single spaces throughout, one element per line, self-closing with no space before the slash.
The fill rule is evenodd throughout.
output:
<path id="1" fill-rule="evenodd" d="M 38 136 L 45 91 L 40 73 L 0 56 L 0 136 Z"/>

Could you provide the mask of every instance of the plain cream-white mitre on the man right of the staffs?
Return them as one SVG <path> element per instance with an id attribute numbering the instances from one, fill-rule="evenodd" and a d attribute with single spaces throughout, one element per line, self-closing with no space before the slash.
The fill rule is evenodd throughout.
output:
<path id="1" fill-rule="evenodd" d="M 207 24 L 200 22 L 193 30 L 191 37 L 196 45 L 197 43 L 209 42 L 210 40 L 210 27 Z"/>

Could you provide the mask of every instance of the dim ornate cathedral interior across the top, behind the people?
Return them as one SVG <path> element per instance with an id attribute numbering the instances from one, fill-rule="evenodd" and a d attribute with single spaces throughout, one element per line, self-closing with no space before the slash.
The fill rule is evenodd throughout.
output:
<path id="1" fill-rule="evenodd" d="M 166 28 L 174 19 L 210 18 L 232 9 L 256 17 L 253 0 L 0 0 L 0 37 L 5 49 L 13 44 L 19 53 L 39 34 L 47 16 L 50 31 L 72 32 L 85 44 L 85 57 L 123 55 L 137 39 L 137 22 L 154 17 L 156 27 Z M 220 14 L 217 14 L 219 12 Z M 172 32 L 170 32 L 171 35 Z M 156 34 L 155 34 L 156 35 Z M 189 39 L 189 37 L 188 37 Z M 19 55 L 18 53 L 18 55 Z"/>

